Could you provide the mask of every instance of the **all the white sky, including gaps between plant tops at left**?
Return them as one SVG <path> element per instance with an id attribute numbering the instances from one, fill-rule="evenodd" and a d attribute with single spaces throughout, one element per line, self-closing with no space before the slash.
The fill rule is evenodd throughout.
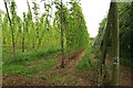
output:
<path id="1" fill-rule="evenodd" d="M 31 3 L 32 0 L 29 0 Z M 42 12 L 43 3 L 40 3 L 40 12 Z M 64 0 L 65 2 L 66 0 Z M 91 37 L 95 37 L 99 31 L 99 23 L 106 16 L 111 0 L 81 0 L 81 8 L 88 26 L 88 32 Z M 16 0 L 17 12 L 22 16 L 23 12 L 28 11 L 27 0 Z M 32 6 L 31 6 L 32 7 Z M 3 0 L 0 0 L 0 9 L 6 12 Z"/>

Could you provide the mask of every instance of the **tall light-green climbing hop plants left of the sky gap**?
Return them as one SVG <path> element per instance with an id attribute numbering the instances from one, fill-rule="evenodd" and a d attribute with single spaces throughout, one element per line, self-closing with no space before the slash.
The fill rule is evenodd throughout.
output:
<path id="1" fill-rule="evenodd" d="M 70 0 L 68 4 L 62 0 L 42 1 L 42 14 L 39 13 L 40 6 L 35 0 L 32 1 L 33 7 L 27 0 L 28 12 L 23 12 L 23 18 L 18 15 L 16 0 L 3 1 L 7 12 L 0 12 L 0 15 L 3 15 L 0 18 L 2 44 L 3 48 L 12 48 L 13 56 L 20 50 L 24 53 L 55 48 L 61 50 L 63 61 L 66 52 L 88 46 L 89 33 L 79 0 Z"/>

